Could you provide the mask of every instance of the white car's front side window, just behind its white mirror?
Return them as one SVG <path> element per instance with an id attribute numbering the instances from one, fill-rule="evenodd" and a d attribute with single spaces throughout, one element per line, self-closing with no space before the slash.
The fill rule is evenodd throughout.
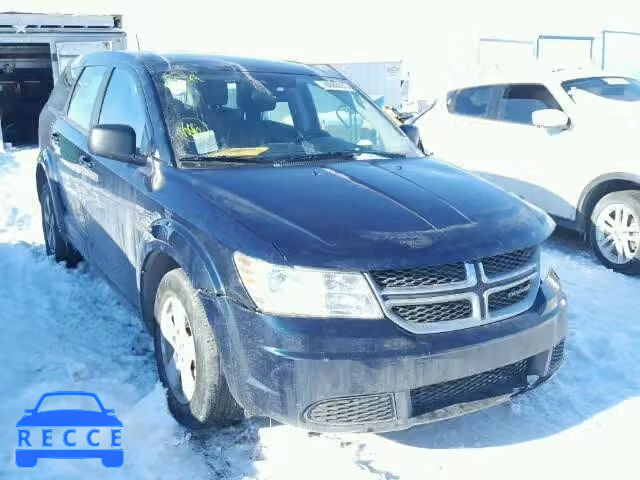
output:
<path id="1" fill-rule="evenodd" d="M 533 112 L 547 108 L 561 110 L 544 85 L 510 85 L 498 102 L 498 120 L 532 125 Z"/>

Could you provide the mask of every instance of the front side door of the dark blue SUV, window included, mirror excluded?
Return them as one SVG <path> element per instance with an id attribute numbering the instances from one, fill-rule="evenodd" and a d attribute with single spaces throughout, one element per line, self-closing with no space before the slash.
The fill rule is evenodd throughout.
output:
<path id="1" fill-rule="evenodd" d="M 128 125 L 136 132 L 138 153 L 149 153 L 151 124 L 136 72 L 126 66 L 109 76 L 98 124 Z M 86 203 L 87 232 L 95 265 L 132 302 L 136 302 L 136 191 L 144 188 L 141 168 L 93 156 L 92 196 Z"/>

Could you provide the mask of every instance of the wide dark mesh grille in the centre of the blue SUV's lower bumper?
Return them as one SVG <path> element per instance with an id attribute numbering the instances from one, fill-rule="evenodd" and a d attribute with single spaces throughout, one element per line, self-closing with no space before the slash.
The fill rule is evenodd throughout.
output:
<path id="1" fill-rule="evenodd" d="M 478 373 L 470 377 L 411 390 L 413 416 L 423 415 L 458 403 L 507 395 L 527 385 L 529 360 Z"/>

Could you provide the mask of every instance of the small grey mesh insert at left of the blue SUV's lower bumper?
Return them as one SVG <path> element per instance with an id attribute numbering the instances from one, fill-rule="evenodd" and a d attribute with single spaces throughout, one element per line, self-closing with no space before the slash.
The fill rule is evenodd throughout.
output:
<path id="1" fill-rule="evenodd" d="M 305 412 L 305 420 L 326 425 L 351 425 L 395 420 L 393 396 L 363 395 L 334 398 L 312 405 Z"/>

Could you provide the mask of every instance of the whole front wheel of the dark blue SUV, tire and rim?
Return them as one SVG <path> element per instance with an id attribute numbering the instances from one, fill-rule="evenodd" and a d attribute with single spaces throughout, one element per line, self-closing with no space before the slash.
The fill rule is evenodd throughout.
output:
<path id="1" fill-rule="evenodd" d="M 207 314 L 181 268 L 160 281 L 154 318 L 158 372 L 175 419 L 192 430 L 241 420 L 242 409 L 227 386 Z M 172 345 L 181 346 L 174 349 Z"/>

